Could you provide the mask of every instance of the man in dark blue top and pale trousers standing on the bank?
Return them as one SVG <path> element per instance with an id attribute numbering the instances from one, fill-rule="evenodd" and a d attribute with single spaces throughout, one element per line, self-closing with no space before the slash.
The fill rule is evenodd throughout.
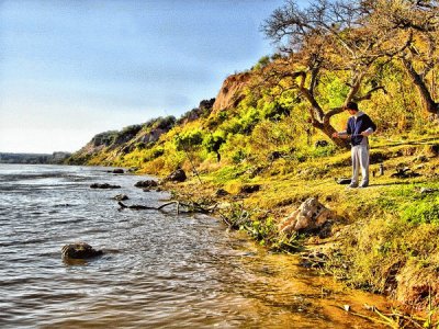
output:
<path id="1" fill-rule="evenodd" d="M 368 136 L 376 131 L 376 125 L 368 114 L 358 110 L 358 104 L 349 102 L 346 110 L 351 115 L 345 132 L 334 133 L 333 137 L 350 139 L 352 146 L 352 179 L 349 188 L 367 188 L 369 185 L 369 140 Z M 362 181 L 358 185 L 358 178 L 362 174 Z"/>

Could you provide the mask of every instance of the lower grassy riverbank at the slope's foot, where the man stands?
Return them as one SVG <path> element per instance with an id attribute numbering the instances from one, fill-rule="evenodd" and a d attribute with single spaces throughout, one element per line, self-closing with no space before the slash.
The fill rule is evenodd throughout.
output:
<path id="1" fill-rule="evenodd" d="M 371 149 L 371 162 L 367 189 L 336 183 L 350 175 L 348 151 L 294 164 L 279 159 L 259 169 L 212 163 L 171 189 L 178 197 L 217 203 L 217 215 L 269 249 L 323 252 L 322 271 L 349 286 L 415 309 L 438 305 L 438 145 L 428 138 L 381 141 Z M 344 220 L 327 238 L 297 235 L 285 241 L 278 224 L 308 197 L 318 197 Z"/>

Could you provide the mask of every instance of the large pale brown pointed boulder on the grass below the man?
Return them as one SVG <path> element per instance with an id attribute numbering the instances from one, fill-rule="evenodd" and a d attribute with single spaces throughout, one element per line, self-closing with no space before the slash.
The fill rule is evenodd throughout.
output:
<path id="1" fill-rule="evenodd" d="M 322 230 L 327 223 L 337 217 L 333 211 L 319 203 L 317 197 L 309 197 L 281 222 L 279 231 L 292 234 L 294 231 Z"/>

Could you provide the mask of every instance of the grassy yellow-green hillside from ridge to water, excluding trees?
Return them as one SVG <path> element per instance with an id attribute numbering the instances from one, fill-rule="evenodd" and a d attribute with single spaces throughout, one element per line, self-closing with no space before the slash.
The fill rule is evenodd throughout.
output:
<path id="1" fill-rule="evenodd" d="M 228 77 L 216 100 L 179 120 L 99 134 L 69 163 L 159 177 L 182 168 L 189 180 L 168 189 L 199 204 L 218 203 L 218 216 L 267 248 L 318 249 L 325 271 L 350 285 L 406 305 L 426 306 L 429 297 L 439 305 L 439 126 L 418 110 L 416 91 L 396 92 L 409 81 L 387 77 L 389 92 L 361 103 L 379 125 L 370 138 L 373 178 L 368 189 L 347 190 L 335 179 L 350 175 L 349 151 L 309 124 L 308 104 L 296 91 L 256 89 L 258 75 Z M 344 82 L 330 83 L 320 91 L 328 104 Z M 382 104 L 399 102 L 412 110 L 383 111 Z M 342 129 L 347 118 L 341 113 L 333 124 Z M 282 235 L 279 223 L 309 197 L 341 219 L 324 236 Z"/>

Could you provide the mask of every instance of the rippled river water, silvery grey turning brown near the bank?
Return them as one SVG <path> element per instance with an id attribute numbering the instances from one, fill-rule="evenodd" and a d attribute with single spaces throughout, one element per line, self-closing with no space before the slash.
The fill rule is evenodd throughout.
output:
<path id="1" fill-rule="evenodd" d="M 344 288 L 203 215 L 159 206 L 146 177 L 108 168 L 0 164 L 0 328 L 382 328 L 360 310 L 380 297 Z M 91 183 L 117 190 L 90 189 Z M 68 263 L 61 247 L 104 254 Z"/>

